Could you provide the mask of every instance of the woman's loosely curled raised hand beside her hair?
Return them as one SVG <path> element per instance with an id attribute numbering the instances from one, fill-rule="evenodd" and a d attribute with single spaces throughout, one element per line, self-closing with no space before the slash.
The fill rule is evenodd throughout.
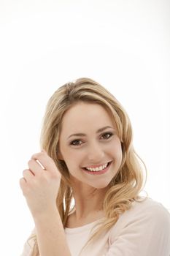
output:
<path id="1" fill-rule="evenodd" d="M 37 162 L 37 160 L 40 162 Z M 45 151 L 34 154 L 23 170 L 20 188 L 26 197 L 33 217 L 56 208 L 56 197 L 61 183 L 61 173 Z"/>

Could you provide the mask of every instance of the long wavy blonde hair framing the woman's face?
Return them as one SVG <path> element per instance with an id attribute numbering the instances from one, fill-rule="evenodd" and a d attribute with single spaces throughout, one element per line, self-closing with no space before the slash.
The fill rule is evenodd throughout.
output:
<path id="1" fill-rule="evenodd" d="M 142 200 L 139 193 L 146 182 L 146 180 L 144 181 L 143 170 L 145 170 L 146 177 L 147 172 L 144 162 L 134 151 L 131 121 L 120 102 L 107 89 L 90 78 L 80 78 L 61 86 L 47 103 L 40 144 L 41 148 L 44 148 L 54 160 L 62 175 L 56 206 L 58 207 L 63 227 L 66 226 L 68 215 L 74 210 L 74 206 L 72 207 L 73 195 L 69 181 L 69 170 L 65 162 L 58 159 L 58 143 L 63 115 L 66 110 L 69 110 L 77 102 L 96 103 L 109 111 L 115 121 L 117 135 L 120 138 L 123 151 L 120 169 L 109 183 L 104 197 L 103 210 L 105 218 L 98 222 L 98 230 L 93 233 L 93 236 L 88 241 L 91 242 L 93 239 L 98 238 L 104 230 L 109 230 L 117 222 L 120 214 L 131 208 L 135 200 Z M 36 249 L 34 249 L 32 256 L 37 256 L 39 252 L 36 235 L 33 234 L 31 238 L 34 238 L 36 244 Z"/>

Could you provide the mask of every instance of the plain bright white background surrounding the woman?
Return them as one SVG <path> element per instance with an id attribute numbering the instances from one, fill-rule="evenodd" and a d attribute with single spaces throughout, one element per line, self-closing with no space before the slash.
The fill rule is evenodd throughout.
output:
<path id="1" fill-rule="evenodd" d="M 170 209 L 170 2 L 1 0 L 0 37 L 3 255 L 20 255 L 34 227 L 19 179 L 47 100 L 69 80 L 92 78 L 123 104 L 145 190 Z"/>

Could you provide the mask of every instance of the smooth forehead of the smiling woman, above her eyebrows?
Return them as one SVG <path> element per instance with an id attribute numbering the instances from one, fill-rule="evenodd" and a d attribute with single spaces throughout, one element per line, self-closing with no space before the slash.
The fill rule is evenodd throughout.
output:
<path id="1" fill-rule="evenodd" d="M 96 103 L 78 102 L 63 115 L 62 130 L 79 131 L 91 127 L 98 129 L 107 125 L 114 126 L 110 113 Z"/>

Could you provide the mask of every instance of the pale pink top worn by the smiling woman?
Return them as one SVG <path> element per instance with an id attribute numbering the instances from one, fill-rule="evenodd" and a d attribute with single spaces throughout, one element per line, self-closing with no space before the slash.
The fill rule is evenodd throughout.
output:
<path id="1" fill-rule="evenodd" d="M 134 202 L 109 231 L 81 252 L 97 222 L 65 228 L 72 256 L 170 256 L 170 214 L 151 198 Z M 21 256 L 31 256 L 33 244 L 26 243 Z"/>

